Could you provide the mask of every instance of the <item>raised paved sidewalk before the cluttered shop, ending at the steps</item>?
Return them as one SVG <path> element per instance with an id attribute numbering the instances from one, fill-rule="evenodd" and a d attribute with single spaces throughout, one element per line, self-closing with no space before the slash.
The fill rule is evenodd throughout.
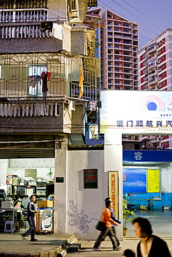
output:
<path id="1" fill-rule="evenodd" d="M 22 240 L 22 233 L 0 233 L 0 256 L 65 256 L 63 247 L 77 242 L 75 235 L 71 234 L 36 235 L 36 238 L 38 241 L 31 242 L 30 236 L 26 240 Z"/>

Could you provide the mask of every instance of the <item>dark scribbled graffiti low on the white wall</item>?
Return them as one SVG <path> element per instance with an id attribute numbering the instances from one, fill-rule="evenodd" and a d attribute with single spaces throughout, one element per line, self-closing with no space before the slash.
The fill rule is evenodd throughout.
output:
<path id="1" fill-rule="evenodd" d="M 88 215 L 84 214 L 84 210 L 78 210 L 77 204 L 74 204 L 74 201 L 69 201 L 69 203 L 70 211 L 68 211 L 68 215 L 71 217 L 69 221 L 70 226 L 77 226 L 77 229 L 79 229 L 83 235 L 90 235 L 89 224 L 97 219 L 89 219 Z"/>

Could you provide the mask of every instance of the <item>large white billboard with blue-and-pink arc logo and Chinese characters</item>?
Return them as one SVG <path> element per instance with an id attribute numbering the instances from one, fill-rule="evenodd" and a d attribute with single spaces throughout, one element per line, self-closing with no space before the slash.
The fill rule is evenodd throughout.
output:
<path id="1" fill-rule="evenodd" d="M 104 90 L 100 101 L 100 132 L 172 133 L 171 91 Z"/>

